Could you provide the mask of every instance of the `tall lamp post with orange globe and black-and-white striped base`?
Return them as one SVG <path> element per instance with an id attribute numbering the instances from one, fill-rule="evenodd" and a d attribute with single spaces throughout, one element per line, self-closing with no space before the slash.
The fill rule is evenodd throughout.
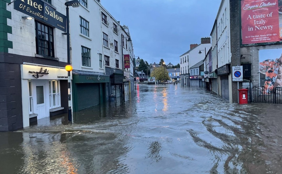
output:
<path id="1" fill-rule="evenodd" d="M 65 69 L 68 71 L 68 121 L 72 121 L 71 114 L 71 96 L 70 96 L 70 71 L 73 70 L 73 67 L 70 65 L 70 23 L 69 23 L 69 14 L 68 14 L 68 6 L 72 6 L 73 8 L 79 7 L 80 3 L 78 0 L 68 1 L 65 3 L 66 6 L 66 33 L 67 35 L 67 56 L 68 56 L 68 65 Z"/>

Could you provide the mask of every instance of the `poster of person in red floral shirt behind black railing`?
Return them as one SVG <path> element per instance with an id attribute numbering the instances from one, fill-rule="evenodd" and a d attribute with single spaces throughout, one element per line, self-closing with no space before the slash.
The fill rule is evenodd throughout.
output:
<path id="1" fill-rule="evenodd" d="M 259 67 L 260 86 L 265 86 L 265 93 L 282 86 L 282 48 L 260 50 Z"/>

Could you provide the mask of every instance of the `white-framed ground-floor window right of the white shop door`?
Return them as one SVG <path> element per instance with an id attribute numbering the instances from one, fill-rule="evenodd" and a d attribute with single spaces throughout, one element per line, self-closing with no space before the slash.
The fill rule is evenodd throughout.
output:
<path id="1" fill-rule="evenodd" d="M 50 109 L 61 107 L 60 81 L 49 81 Z"/>

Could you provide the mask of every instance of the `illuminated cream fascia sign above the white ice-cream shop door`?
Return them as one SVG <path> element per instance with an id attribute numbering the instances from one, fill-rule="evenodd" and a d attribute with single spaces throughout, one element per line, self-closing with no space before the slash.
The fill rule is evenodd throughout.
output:
<path id="1" fill-rule="evenodd" d="M 68 72 L 63 68 L 51 68 L 45 66 L 21 65 L 22 79 L 68 79 Z"/>

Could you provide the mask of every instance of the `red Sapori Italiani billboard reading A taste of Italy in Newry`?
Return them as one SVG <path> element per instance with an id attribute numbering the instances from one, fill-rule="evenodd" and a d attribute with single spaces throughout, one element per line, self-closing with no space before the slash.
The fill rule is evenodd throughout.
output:
<path id="1" fill-rule="evenodd" d="M 282 41 L 282 0 L 242 0 L 242 44 Z"/>

